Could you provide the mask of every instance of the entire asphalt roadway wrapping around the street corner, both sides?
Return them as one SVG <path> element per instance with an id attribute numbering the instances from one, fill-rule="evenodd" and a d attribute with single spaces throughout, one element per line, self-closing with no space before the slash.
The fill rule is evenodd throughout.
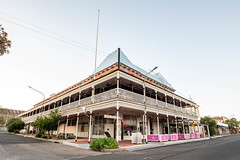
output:
<path id="1" fill-rule="evenodd" d="M 105 154 L 0 131 L 0 160 L 240 160 L 240 135 Z"/>

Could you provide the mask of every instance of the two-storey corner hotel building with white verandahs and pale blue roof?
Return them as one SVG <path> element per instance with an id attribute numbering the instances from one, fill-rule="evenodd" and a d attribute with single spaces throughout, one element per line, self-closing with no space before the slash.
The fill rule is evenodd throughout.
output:
<path id="1" fill-rule="evenodd" d="M 135 66 L 120 48 L 95 73 L 20 117 L 29 125 L 58 109 L 61 121 L 55 134 L 74 134 L 89 141 L 105 137 L 106 132 L 117 141 L 130 140 L 134 133 L 146 140 L 156 140 L 154 135 L 167 135 L 169 140 L 171 135 L 177 139 L 205 135 L 204 127 L 199 127 L 199 106 L 175 94 L 161 74 L 148 74 Z"/>

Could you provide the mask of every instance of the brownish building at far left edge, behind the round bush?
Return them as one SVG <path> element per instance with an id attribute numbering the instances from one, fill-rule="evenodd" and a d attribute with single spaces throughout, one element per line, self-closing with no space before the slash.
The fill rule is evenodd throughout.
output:
<path id="1" fill-rule="evenodd" d="M 0 123 L 0 127 L 6 125 L 7 121 L 11 118 L 17 118 L 19 114 L 24 111 L 8 109 L 8 108 L 0 108 L 0 120 L 3 123 Z M 3 121 L 2 121 L 3 120 Z"/>

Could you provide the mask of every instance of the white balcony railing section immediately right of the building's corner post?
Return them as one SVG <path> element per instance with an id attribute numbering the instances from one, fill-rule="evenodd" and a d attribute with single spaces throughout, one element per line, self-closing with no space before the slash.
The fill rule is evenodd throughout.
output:
<path id="1" fill-rule="evenodd" d="M 144 103 L 143 95 L 137 94 L 137 93 L 125 90 L 125 89 L 121 89 L 121 88 L 119 88 L 119 97 L 130 100 L 130 101 Z"/>

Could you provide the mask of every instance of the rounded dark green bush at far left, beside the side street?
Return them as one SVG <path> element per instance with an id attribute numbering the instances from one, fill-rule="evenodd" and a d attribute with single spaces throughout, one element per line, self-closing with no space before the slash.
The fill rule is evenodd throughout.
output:
<path id="1" fill-rule="evenodd" d="M 24 125 L 21 119 L 12 118 L 7 122 L 7 130 L 8 132 L 19 133 L 19 131 L 24 128 Z"/>

